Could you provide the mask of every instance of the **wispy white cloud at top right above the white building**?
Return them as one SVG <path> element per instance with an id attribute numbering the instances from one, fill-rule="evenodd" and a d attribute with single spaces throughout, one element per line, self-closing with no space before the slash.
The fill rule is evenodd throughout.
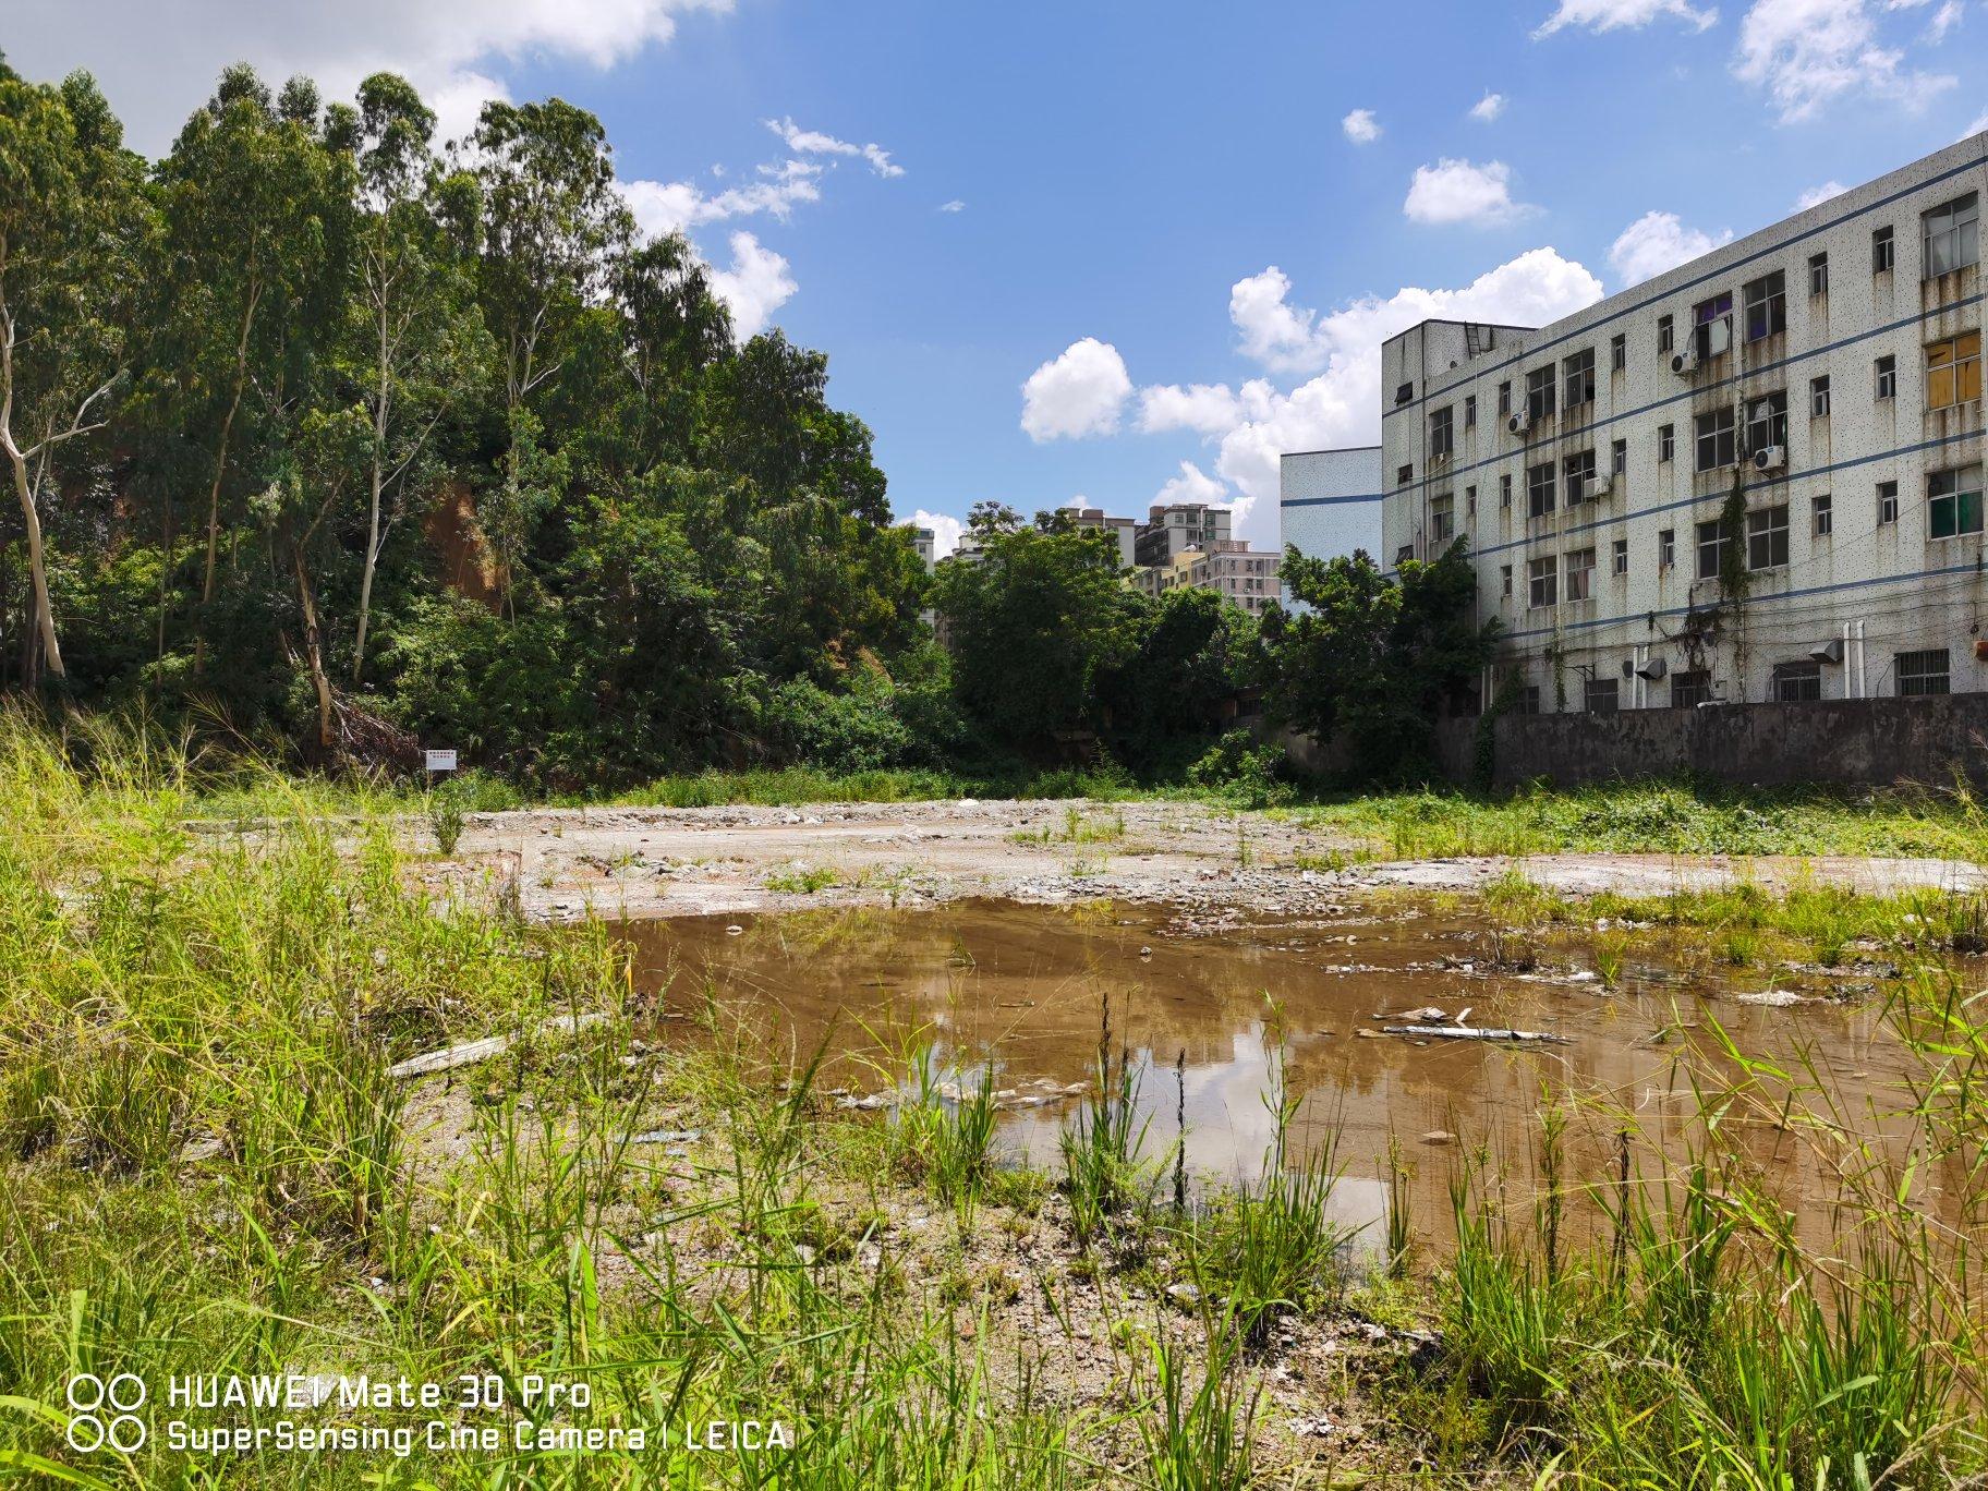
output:
<path id="1" fill-rule="evenodd" d="M 1813 119 L 1849 93 L 1916 107 L 1954 85 L 1908 70 L 1901 50 L 1883 46 L 1867 0 L 1753 0 L 1734 74 L 1767 89 L 1781 123 Z"/>

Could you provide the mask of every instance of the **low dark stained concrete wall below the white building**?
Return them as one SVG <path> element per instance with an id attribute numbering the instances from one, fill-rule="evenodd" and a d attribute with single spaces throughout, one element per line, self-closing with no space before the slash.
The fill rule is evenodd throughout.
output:
<path id="1" fill-rule="evenodd" d="M 1789 785 L 1988 781 L 1988 694 L 1712 704 L 1620 714 L 1507 714 L 1495 724 L 1495 783 L 1700 773 Z"/>

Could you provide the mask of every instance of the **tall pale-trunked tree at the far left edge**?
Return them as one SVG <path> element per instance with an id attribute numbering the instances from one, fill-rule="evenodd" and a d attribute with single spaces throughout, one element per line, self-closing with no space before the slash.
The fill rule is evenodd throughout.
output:
<path id="1" fill-rule="evenodd" d="M 137 161 L 87 74 L 62 87 L 0 62 L 0 449 L 28 539 L 42 666 L 66 678 L 40 505 L 58 451 L 109 417 L 143 199 Z"/>

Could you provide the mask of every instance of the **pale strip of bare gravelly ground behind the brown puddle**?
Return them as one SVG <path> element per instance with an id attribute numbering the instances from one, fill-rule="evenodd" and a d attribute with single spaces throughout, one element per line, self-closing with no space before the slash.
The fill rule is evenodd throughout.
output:
<path id="1" fill-rule="evenodd" d="M 410 829 L 421 847 L 425 829 Z M 1282 817 L 1207 803 L 817 803 L 811 807 L 537 809 L 471 815 L 433 877 L 493 875 L 527 914 L 694 916 L 803 907 L 918 907 L 964 897 L 1111 897 L 1189 914 L 1306 914 L 1374 887 L 1467 891 L 1523 867 L 1557 891 L 1664 895 L 1753 879 L 1863 893 L 1974 889 L 1940 859 L 1535 855 L 1352 863 L 1358 845 Z"/>

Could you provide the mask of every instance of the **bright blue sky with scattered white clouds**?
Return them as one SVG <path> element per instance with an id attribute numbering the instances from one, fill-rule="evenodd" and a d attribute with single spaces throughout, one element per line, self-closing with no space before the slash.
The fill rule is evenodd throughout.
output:
<path id="1" fill-rule="evenodd" d="M 742 324 L 829 352 L 901 517 L 1169 493 L 1258 539 L 1278 449 L 1376 437 L 1402 324 L 1565 314 L 1988 103 L 1988 0 L 14 0 L 0 44 L 149 151 L 235 58 L 457 125 L 561 93 Z"/>

